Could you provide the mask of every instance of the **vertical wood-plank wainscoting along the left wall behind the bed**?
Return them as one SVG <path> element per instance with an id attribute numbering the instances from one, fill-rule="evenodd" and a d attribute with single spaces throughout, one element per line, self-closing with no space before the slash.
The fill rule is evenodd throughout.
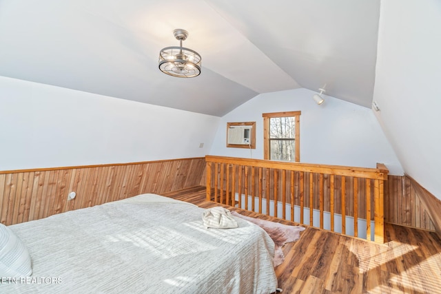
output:
<path id="1" fill-rule="evenodd" d="M 141 193 L 199 184 L 205 158 L 0 171 L 0 222 L 6 225 L 92 207 Z M 76 198 L 68 201 L 68 193 Z"/>

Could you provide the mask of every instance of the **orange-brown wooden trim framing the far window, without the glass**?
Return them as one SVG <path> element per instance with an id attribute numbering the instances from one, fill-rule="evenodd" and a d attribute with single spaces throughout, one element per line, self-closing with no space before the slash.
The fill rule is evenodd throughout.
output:
<path id="1" fill-rule="evenodd" d="M 296 118 L 296 162 L 300 162 L 300 114 L 302 112 L 269 112 L 263 116 L 263 159 L 269 160 L 269 118 L 294 116 Z"/>

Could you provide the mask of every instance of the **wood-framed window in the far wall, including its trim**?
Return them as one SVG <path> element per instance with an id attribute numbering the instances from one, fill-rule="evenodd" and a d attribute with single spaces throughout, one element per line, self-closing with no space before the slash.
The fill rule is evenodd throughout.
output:
<path id="1" fill-rule="evenodd" d="M 273 112 L 263 116 L 265 159 L 300 161 L 301 112 Z"/>

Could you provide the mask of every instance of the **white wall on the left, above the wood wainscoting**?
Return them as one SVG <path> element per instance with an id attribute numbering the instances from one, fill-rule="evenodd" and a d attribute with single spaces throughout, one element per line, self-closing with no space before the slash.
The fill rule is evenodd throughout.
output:
<path id="1" fill-rule="evenodd" d="M 0 76 L 0 170 L 205 156 L 219 120 Z"/>

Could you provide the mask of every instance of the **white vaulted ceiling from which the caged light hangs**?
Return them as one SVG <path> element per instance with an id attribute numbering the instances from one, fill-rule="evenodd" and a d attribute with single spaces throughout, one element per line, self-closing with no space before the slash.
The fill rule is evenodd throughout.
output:
<path id="1" fill-rule="evenodd" d="M 257 94 L 326 84 L 370 107 L 380 0 L 0 0 L 0 75 L 223 116 Z M 158 70 L 178 45 L 202 74 Z"/>

